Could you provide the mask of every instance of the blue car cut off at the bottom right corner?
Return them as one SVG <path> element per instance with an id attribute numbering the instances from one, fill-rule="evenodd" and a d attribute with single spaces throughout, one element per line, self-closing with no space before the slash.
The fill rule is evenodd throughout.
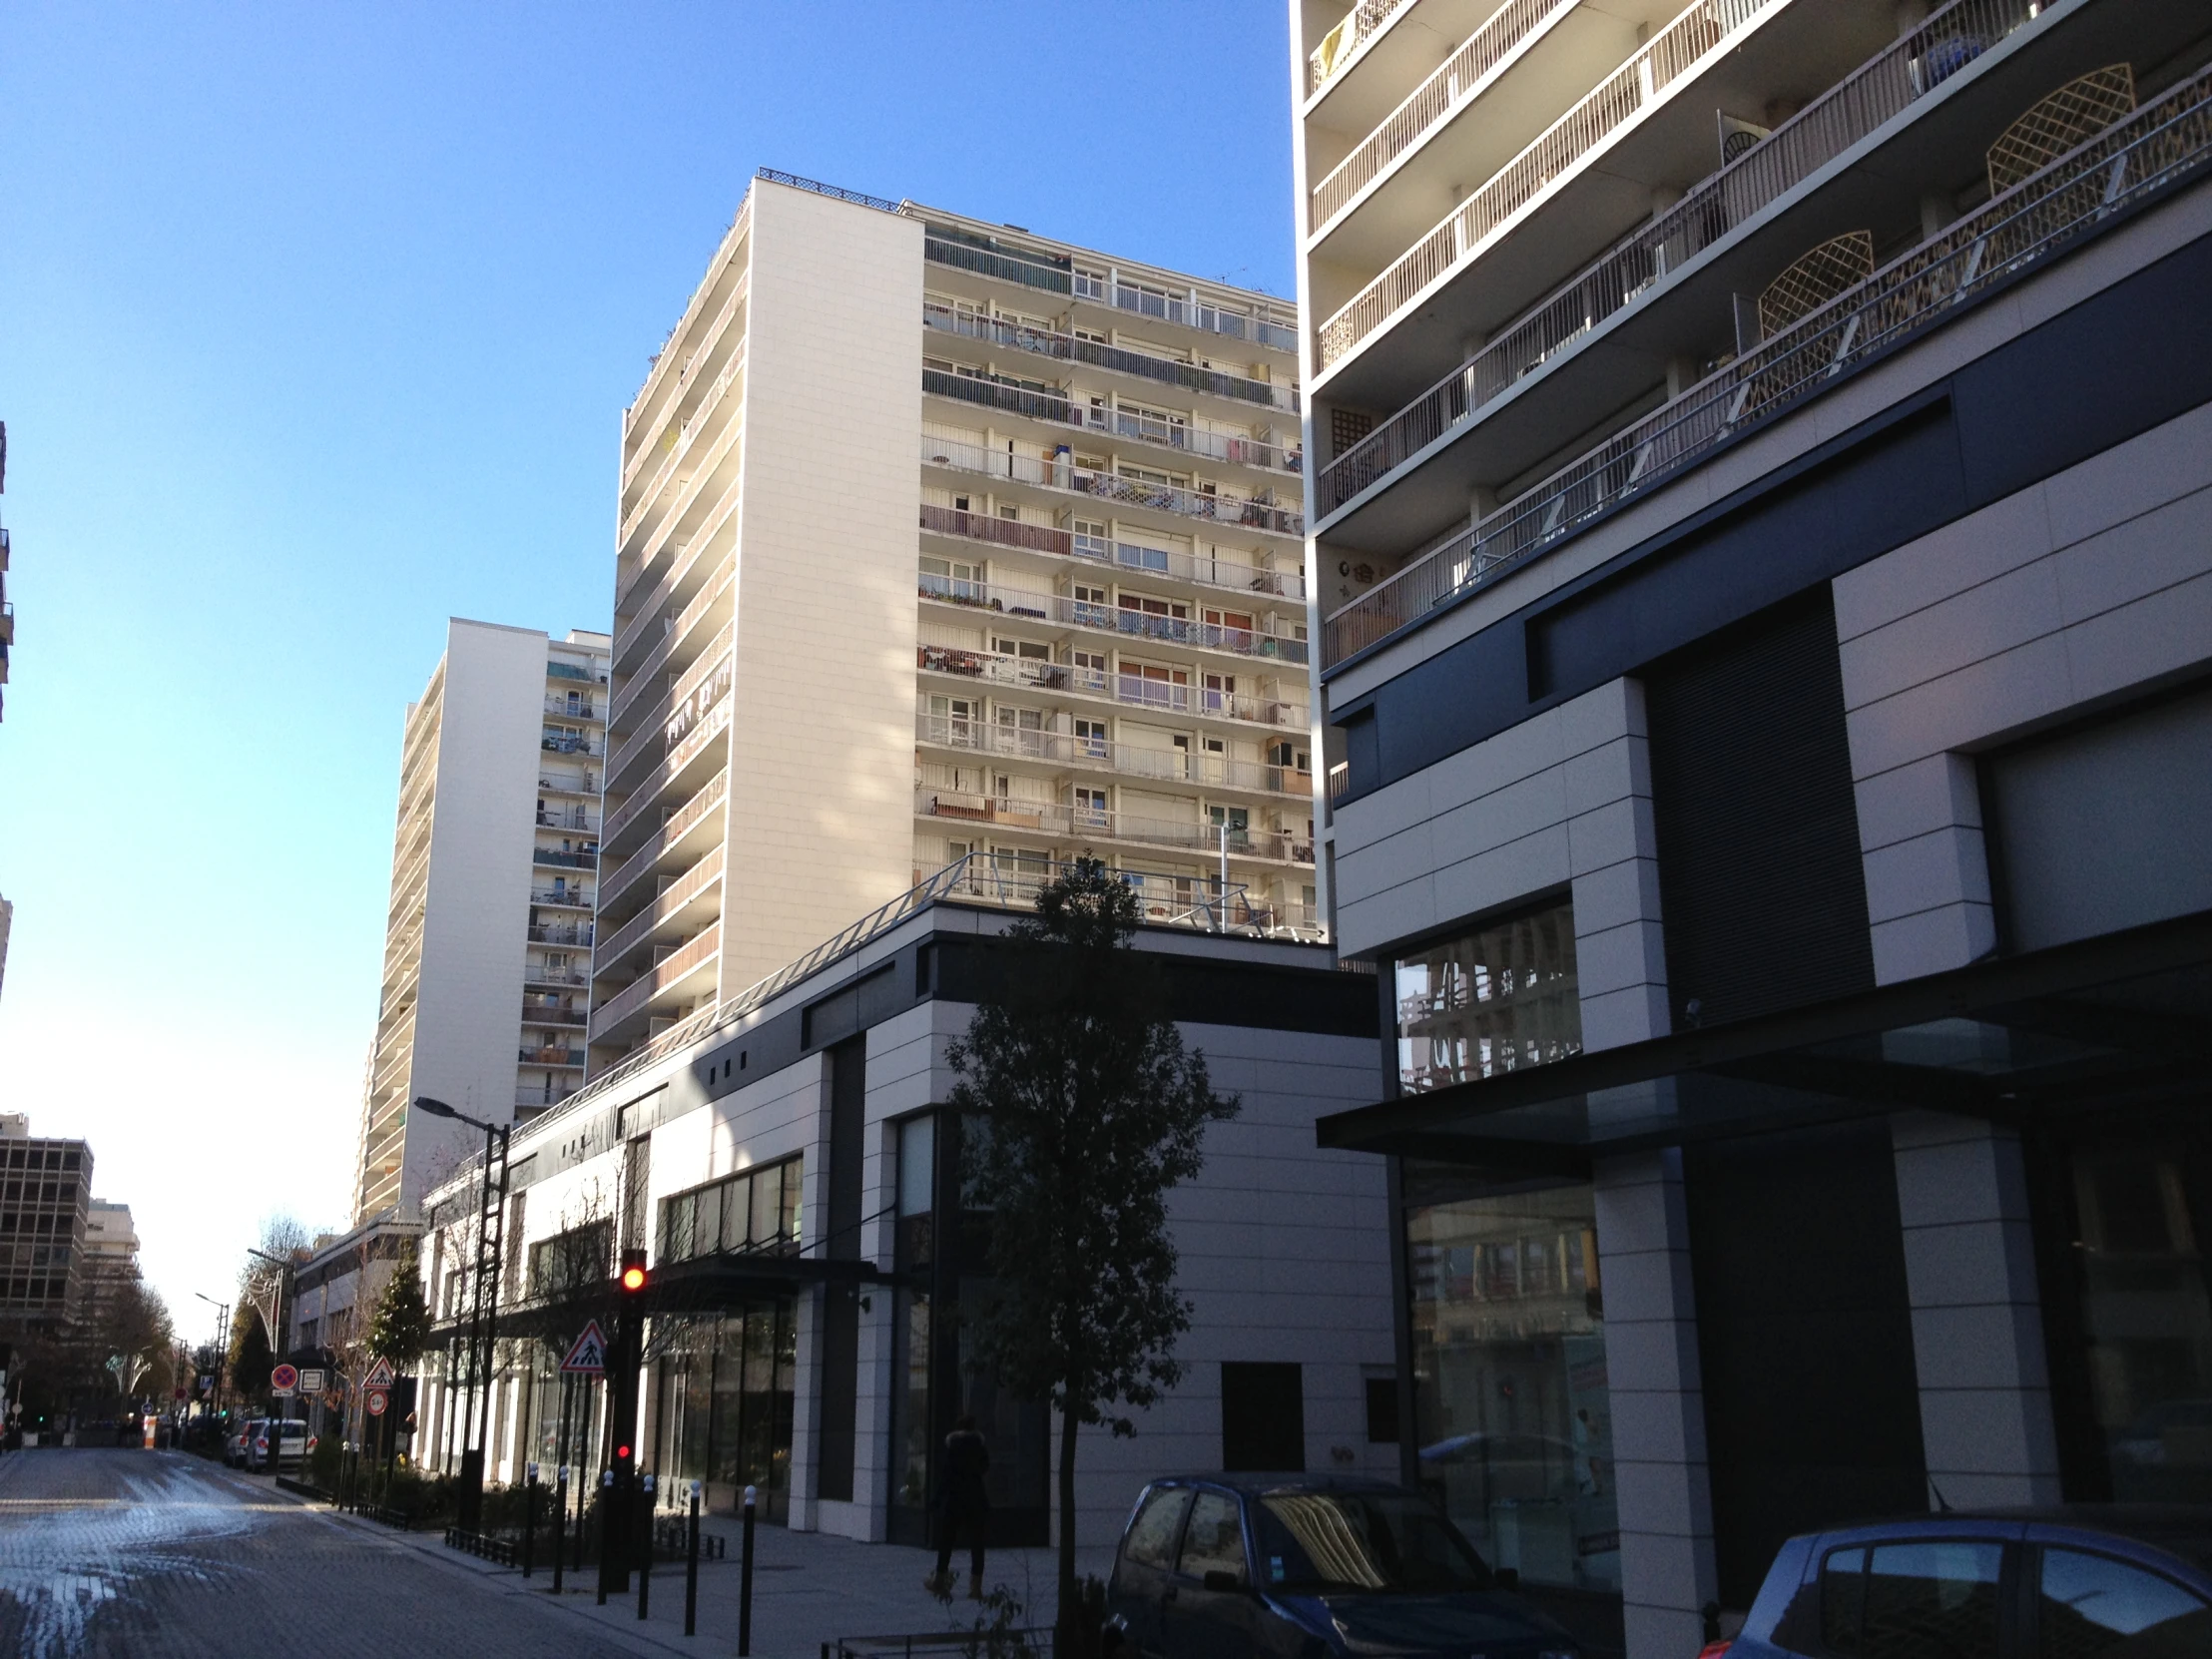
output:
<path id="1" fill-rule="evenodd" d="M 1947 1511 L 1792 1537 L 1743 1630 L 1705 1655 L 2203 1659 L 2212 1506 Z"/>

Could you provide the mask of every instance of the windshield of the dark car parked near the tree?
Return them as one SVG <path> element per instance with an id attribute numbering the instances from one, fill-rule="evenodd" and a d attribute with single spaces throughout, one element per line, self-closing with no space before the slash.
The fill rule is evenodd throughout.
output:
<path id="1" fill-rule="evenodd" d="M 1489 1566 L 1425 1500 L 1385 1491 L 1267 1493 L 1259 1577 L 1285 1590 L 1489 1590 Z"/>

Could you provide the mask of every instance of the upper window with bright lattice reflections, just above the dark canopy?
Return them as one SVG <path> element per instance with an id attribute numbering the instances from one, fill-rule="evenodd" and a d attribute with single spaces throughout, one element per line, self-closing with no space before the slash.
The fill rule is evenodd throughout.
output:
<path id="1" fill-rule="evenodd" d="M 1407 1093 L 1582 1053 L 1573 905 L 1400 956 L 1396 978 Z"/>

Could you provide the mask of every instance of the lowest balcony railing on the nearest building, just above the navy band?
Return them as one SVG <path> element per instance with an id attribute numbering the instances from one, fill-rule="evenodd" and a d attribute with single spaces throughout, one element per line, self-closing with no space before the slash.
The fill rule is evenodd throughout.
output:
<path id="1" fill-rule="evenodd" d="M 2212 159 L 2212 71 L 2115 122 L 1938 237 L 1608 438 L 1469 531 L 1376 584 L 1325 624 L 1327 661 L 1376 644 L 1756 420 L 2051 259 L 2115 212 Z"/>

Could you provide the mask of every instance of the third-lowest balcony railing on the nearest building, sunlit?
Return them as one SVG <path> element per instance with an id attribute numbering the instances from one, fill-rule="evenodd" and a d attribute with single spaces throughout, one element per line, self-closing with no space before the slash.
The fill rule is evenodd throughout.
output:
<path id="1" fill-rule="evenodd" d="M 1730 33 L 1778 4 L 1783 0 L 1692 0 L 1690 9 L 1652 35 L 1635 58 L 1553 122 L 1526 150 L 1453 208 L 1436 230 L 1416 241 L 1352 303 L 1323 323 L 1321 367 L 1347 356 L 1400 305 L 1453 265 L 1482 252 L 1506 219 L 1582 164 L 1630 117 L 1666 97 L 1674 82 Z"/>

